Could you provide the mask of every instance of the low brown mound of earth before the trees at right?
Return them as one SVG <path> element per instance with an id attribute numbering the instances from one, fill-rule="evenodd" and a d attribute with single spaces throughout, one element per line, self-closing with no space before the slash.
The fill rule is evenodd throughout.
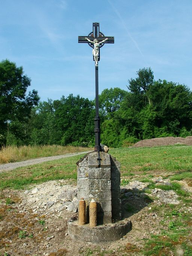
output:
<path id="1" fill-rule="evenodd" d="M 164 138 L 154 138 L 148 140 L 140 140 L 135 143 L 132 147 L 154 147 L 154 146 L 166 146 L 166 145 L 175 145 L 175 144 L 184 144 L 192 145 L 192 136 L 186 138 L 182 137 L 164 137 Z"/>

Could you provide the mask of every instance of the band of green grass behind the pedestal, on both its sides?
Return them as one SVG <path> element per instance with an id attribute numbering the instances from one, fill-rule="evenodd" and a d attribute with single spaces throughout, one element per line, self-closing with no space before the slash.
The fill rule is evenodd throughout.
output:
<path id="1" fill-rule="evenodd" d="M 156 170 L 161 170 L 173 173 L 179 171 L 180 173 L 175 174 L 171 179 L 183 179 L 184 177 L 191 178 L 191 172 L 189 172 L 192 170 L 191 151 L 192 146 L 161 146 L 111 149 L 110 154 L 121 163 L 121 176 L 133 176 L 139 172 L 139 174 L 148 175 L 151 178 Z M 30 184 L 57 179 L 75 180 L 77 179 L 76 162 L 81 157 L 83 155 L 0 173 L 0 189 L 7 187 L 20 189 Z M 152 172 L 152 174 L 148 172 Z M 144 178 L 141 181 L 150 182 L 150 179 Z M 166 189 L 166 187 L 164 188 Z M 174 188 L 174 190 L 176 189 Z"/>

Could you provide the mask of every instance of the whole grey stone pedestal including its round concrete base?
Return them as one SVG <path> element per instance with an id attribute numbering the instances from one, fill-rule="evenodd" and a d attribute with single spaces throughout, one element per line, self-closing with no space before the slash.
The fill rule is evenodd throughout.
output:
<path id="1" fill-rule="evenodd" d="M 86 225 L 68 221 L 68 234 L 74 240 L 104 243 L 122 238 L 130 230 L 130 220 L 121 220 L 120 163 L 110 154 L 88 153 L 77 163 L 78 199 L 86 201 Z M 89 205 L 97 203 L 97 226 L 90 227 Z M 103 225 L 104 224 L 104 225 Z"/>

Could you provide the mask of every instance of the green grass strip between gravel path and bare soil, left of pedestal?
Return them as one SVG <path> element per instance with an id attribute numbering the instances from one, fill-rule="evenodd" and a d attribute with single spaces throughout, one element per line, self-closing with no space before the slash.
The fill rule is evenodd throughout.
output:
<path id="1" fill-rule="evenodd" d="M 76 162 L 84 155 L 62 158 L 28 167 L 0 173 L 0 190 L 5 188 L 24 189 L 30 184 L 58 179 L 77 179 Z"/>

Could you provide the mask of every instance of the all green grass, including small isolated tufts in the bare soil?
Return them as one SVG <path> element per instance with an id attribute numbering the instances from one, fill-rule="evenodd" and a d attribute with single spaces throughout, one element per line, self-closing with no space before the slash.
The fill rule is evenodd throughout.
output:
<path id="1" fill-rule="evenodd" d="M 160 218 L 158 226 L 160 233 L 151 235 L 149 239 L 144 240 L 144 249 L 141 249 L 142 255 L 166 256 L 169 255 L 170 250 L 175 252 L 177 246 L 183 248 L 184 255 L 192 255 L 192 247 L 189 240 L 187 240 L 187 236 L 191 233 L 191 213 L 186 211 L 192 205 L 192 199 L 189 197 L 190 193 L 184 191 L 181 184 L 177 182 L 182 179 L 187 181 L 192 179 L 191 152 L 192 146 L 180 145 L 110 150 L 110 154 L 121 163 L 121 176 L 123 176 L 121 185 L 126 185 L 129 183 L 129 179 L 135 178 L 142 182 L 149 182 L 147 190 L 145 190 L 146 193 L 150 194 L 151 189 L 160 188 L 162 190 L 174 190 L 179 195 L 179 205 L 157 205 L 153 198 L 151 199 L 153 196 L 144 198 L 146 202 L 150 203 L 151 209 L 148 211 L 155 212 L 157 217 Z M 83 156 L 84 154 L 0 173 L 0 189 L 23 189 L 31 184 L 58 179 L 76 181 L 76 162 Z M 164 178 L 168 177 L 171 180 L 171 185 L 156 185 L 156 182 L 151 181 L 151 178 L 159 175 L 159 172 L 161 175 L 166 173 Z M 137 176 L 134 177 L 134 175 Z M 12 199 L 6 200 L 6 204 L 10 205 Z M 130 215 L 137 211 L 135 206 L 130 203 L 126 203 L 125 207 Z M 9 210 L 12 211 L 12 209 L 7 209 L 7 211 Z M 3 217 L 0 215 L 1 219 Z M 45 221 L 39 220 L 38 223 L 44 227 Z M 20 238 L 33 237 L 33 234 L 24 232 L 19 233 Z M 95 252 L 89 249 L 84 253 L 92 255 Z M 101 255 L 104 254 L 102 252 Z"/>

